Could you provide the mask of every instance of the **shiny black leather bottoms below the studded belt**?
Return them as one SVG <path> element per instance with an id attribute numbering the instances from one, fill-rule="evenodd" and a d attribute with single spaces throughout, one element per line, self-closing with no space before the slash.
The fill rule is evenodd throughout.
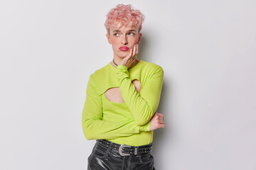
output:
<path id="1" fill-rule="evenodd" d="M 151 146 L 152 144 L 146 145 Z M 151 153 L 121 156 L 119 152 L 96 142 L 88 157 L 88 170 L 155 170 Z"/>

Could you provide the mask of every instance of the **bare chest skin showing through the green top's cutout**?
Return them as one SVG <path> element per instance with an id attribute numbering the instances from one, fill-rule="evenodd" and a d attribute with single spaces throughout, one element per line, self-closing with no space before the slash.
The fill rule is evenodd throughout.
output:
<path id="1" fill-rule="evenodd" d="M 141 86 L 139 80 L 134 79 L 132 81 L 132 84 L 134 84 L 135 89 L 139 93 L 139 91 L 141 91 L 141 89 L 142 89 L 142 86 Z M 119 87 L 107 89 L 107 91 L 105 92 L 105 96 L 107 97 L 107 99 L 109 101 L 112 101 L 114 103 L 124 103 L 124 99 L 122 98 L 122 94 L 121 94 Z"/>

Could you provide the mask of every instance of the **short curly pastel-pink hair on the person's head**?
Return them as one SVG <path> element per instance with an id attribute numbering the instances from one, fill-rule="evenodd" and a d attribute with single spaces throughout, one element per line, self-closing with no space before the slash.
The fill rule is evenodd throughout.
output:
<path id="1" fill-rule="evenodd" d="M 105 27 L 107 33 L 110 34 L 110 28 L 113 28 L 114 24 L 118 21 L 122 23 L 122 26 L 127 26 L 132 22 L 133 26 L 136 26 L 142 30 L 142 23 L 145 16 L 137 9 L 134 9 L 132 5 L 117 4 L 115 8 L 112 8 L 107 13 L 107 19 L 105 21 Z"/>

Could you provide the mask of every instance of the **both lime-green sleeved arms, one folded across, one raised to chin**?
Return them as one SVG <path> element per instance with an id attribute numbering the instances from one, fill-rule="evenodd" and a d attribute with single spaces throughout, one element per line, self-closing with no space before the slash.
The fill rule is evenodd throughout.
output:
<path id="1" fill-rule="evenodd" d="M 87 84 L 87 96 L 82 110 L 82 130 L 87 140 L 114 139 L 121 136 L 130 136 L 142 131 L 150 131 L 159 122 L 159 114 L 154 114 L 159 104 L 163 70 L 156 69 L 151 78 L 137 93 L 132 80 L 129 78 L 127 67 L 120 65 L 117 68 L 119 88 L 134 120 L 129 122 L 109 122 L 102 120 L 102 101 L 97 94 L 94 77 L 91 75 Z M 154 117 L 152 118 L 152 116 Z M 159 123 L 158 123 L 159 125 Z"/>

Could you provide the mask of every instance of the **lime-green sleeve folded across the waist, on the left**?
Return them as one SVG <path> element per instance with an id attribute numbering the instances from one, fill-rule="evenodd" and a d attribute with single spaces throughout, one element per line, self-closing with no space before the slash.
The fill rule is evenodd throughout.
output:
<path id="1" fill-rule="evenodd" d="M 130 136 L 141 131 L 149 131 L 150 124 L 139 126 L 134 120 L 129 122 L 109 122 L 102 120 L 102 100 L 95 90 L 92 75 L 86 90 L 87 96 L 82 109 L 82 130 L 87 140 L 114 139 Z"/>

